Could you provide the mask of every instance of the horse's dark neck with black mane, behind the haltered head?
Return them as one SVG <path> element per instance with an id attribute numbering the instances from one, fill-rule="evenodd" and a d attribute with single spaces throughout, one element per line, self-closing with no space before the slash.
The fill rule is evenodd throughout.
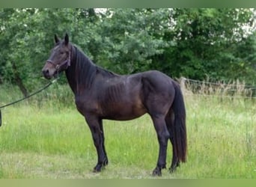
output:
<path id="1" fill-rule="evenodd" d="M 73 93 L 79 94 L 91 87 L 96 67 L 79 49 L 73 47 L 72 54 L 66 76 Z"/>

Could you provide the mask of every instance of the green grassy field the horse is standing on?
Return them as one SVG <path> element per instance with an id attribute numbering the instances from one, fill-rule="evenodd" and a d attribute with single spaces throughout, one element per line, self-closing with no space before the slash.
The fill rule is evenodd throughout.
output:
<path id="1" fill-rule="evenodd" d="M 0 88 L 0 105 L 19 97 L 16 88 L 8 89 Z M 256 100 L 192 94 L 185 99 L 188 159 L 160 178 L 256 178 Z M 1 113 L 0 178 L 153 178 L 158 143 L 147 115 L 104 121 L 109 165 L 94 174 L 91 132 L 70 88 L 54 85 Z M 169 167 L 171 144 L 167 162 Z"/>

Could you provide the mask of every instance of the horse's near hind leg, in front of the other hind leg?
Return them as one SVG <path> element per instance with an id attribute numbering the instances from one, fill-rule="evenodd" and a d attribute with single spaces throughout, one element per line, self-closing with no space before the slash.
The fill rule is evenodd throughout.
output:
<path id="1" fill-rule="evenodd" d="M 161 176 L 162 168 L 166 168 L 166 150 L 168 145 L 169 132 L 165 125 L 165 116 L 152 116 L 153 125 L 159 142 L 159 156 L 156 168 L 153 170 L 153 176 Z"/>

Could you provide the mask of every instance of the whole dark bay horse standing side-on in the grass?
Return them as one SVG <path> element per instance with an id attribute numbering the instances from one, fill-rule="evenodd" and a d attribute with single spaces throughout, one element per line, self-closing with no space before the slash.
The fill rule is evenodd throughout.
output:
<path id="1" fill-rule="evenodd" d="M 186 110 L 177 82 L 156 70 L 121 76 L 95 65 L 76 46 L 55 35 L 55 46 L 43 67 L 52 79 L 65 71 L 76 107 L 91 129 L 98 162 L 94 171 L 108 164 L 104 145 L 103 119 L 132 120 L 147 113 L 153 120 L 159 156 L 153 175 L 161 176 L 166 165 L 168 140 L 172 144 L 170 171 L 186 162 Z"/>

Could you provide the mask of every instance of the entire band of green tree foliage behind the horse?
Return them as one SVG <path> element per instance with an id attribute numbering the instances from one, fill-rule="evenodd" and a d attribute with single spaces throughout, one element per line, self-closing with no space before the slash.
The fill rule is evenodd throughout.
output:
<path id="1" fill-rule="evenodd" d="M 96 64 L 117 73 L 156 69 L 169 76 L 253 84 L 254 13 L 234 8 L 4 8 L 0 84 L 10 82 L 28 92 L 43 85 L 40 71 L 53 35 L 65 32 Z"/>

